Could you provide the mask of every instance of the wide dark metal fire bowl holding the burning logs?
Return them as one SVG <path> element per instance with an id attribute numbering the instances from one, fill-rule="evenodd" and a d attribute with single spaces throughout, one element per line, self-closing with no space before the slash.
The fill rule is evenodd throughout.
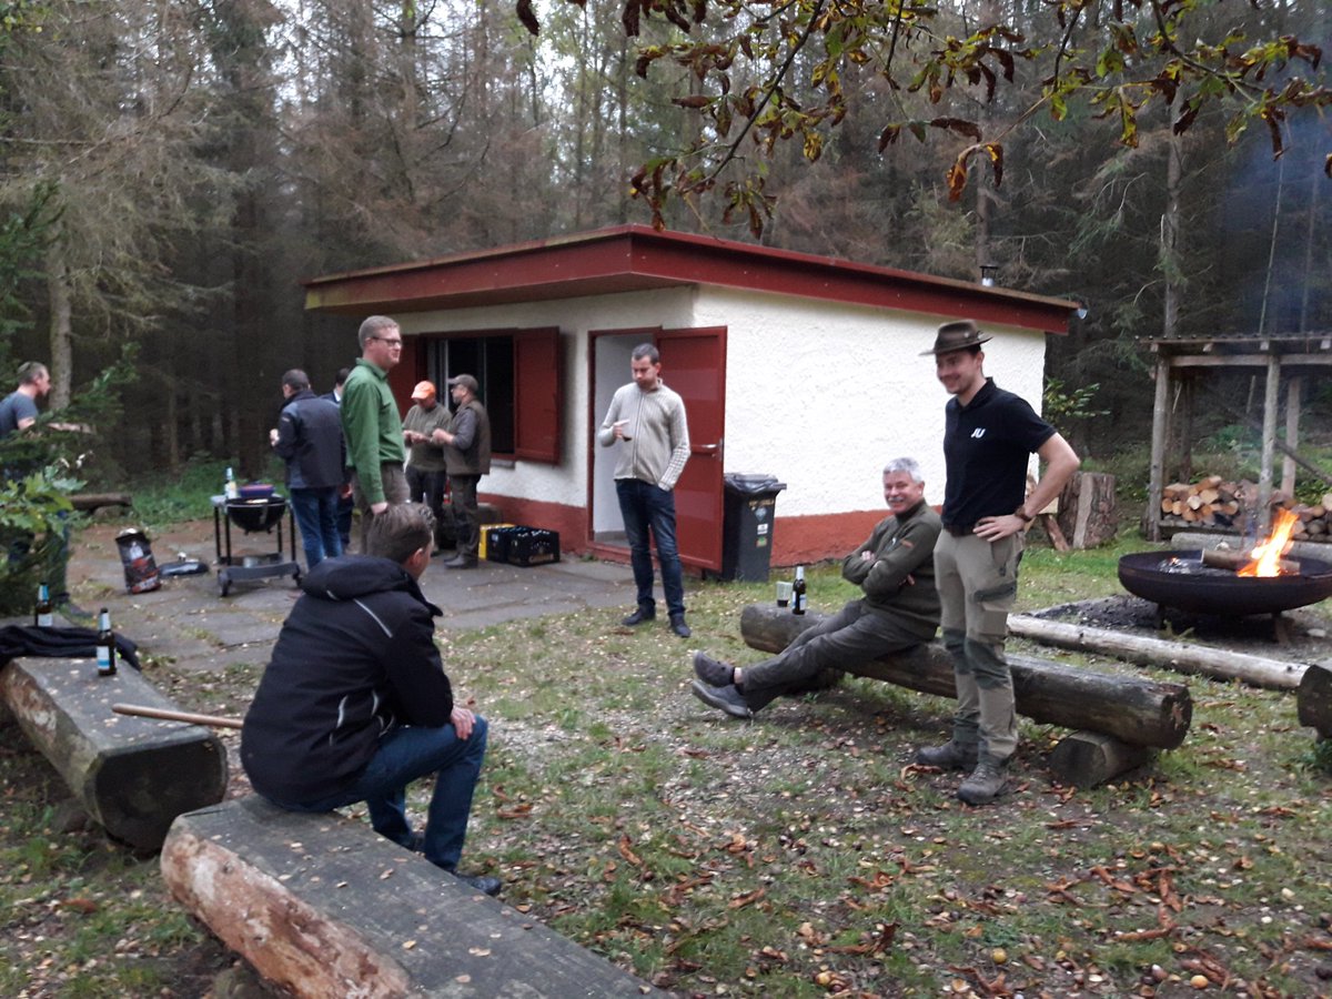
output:
<path id="1" fill-rule="evenodd" d="M 1201 551 L 1139 551 L 1119 559 L 1119 582 L 1135 597 L 1192 614 L 1280 614 L 1332 595 L 1332 563 L 1301 558 L 1296 575 L 1253 577 L 1204 566 Z"/>

